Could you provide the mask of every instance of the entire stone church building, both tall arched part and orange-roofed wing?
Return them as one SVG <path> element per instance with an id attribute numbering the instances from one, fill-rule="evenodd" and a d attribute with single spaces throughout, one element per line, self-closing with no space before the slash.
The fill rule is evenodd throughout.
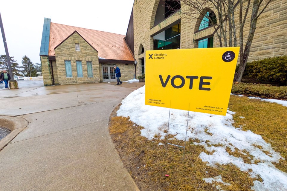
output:
<path id="1" fill-rule="evenodd" d="M 243 7 L 246 4 L 244 1 Z M 55 24 L 45 18 L 40 51 L 44 84 L 115 81 L 114 64 L 124 73 L 122 81 L 128 80 L 145 73 L 146 50 L 220 47 L 210 21 L 201 14 L 187 17 L 181 13 L 186 8 L 181 1 L 135 0 L 126 36 Z M 218 21 L 216 10 L 205 10 L 213 21 Z M 239 35 L 237 1 L 234 17 Z M 249 27 L 247 17 L 244 41 Z M 239 36 L 237 39 L 239 46 Z M 248 61 L 286 55 L 286 48 L 287 1 L 273 0 L 257 21 Z"/>

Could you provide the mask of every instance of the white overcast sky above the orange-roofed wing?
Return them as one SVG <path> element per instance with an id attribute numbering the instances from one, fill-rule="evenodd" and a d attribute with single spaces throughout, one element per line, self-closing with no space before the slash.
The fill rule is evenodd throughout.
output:
<path id="1" fill-rule="evenodd" d="M 1 17 L 10 56 L 21 65 L 28 56 L 40 63 L 44 18 L 51 22 L 126 34 L 134 0 L 1 1 Z M 0 39 L 0 54 L 6 54 Z"/>

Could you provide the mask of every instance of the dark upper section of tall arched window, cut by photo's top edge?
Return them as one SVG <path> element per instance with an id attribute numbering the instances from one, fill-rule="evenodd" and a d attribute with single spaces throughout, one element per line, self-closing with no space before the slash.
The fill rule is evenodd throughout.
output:
<path id="1" fill-rule="evenodd" d="M 180 0 L 160 0 L 155 13 L 154 26 L 181 8 Z"/>

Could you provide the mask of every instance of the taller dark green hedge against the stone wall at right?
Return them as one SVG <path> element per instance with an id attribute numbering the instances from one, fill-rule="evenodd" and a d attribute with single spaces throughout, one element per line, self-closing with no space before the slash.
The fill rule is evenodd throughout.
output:
<path id="1" fill-rule="evenodd" d="M 259 82 L 287 85 L 287 56 L 248 62 L 243 78 L 253 78 Z"/>

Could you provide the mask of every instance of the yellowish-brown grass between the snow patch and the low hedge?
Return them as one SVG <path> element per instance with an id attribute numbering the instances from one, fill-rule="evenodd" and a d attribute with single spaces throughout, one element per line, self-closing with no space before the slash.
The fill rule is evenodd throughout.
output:
<path id="1" fill-rule="evenodd" d="M 287 160 L 287 107 L 239 96 L 230 96 L 228 107 L 236 112 L 233 115 L 235 127 L 242 127 L 243 130 L 251 130 L 261 135 L 275 151 Z M 240 116 L 245 118 L 240 118 Z M 262 149 L 260 146 L 257 147 Z M 265 151 L 265 154 L 268 153 Z M 287 172 L 286 160 L 280 160 L 279 164 L 274 163 L 274 165 L 279 170 Z"/>

